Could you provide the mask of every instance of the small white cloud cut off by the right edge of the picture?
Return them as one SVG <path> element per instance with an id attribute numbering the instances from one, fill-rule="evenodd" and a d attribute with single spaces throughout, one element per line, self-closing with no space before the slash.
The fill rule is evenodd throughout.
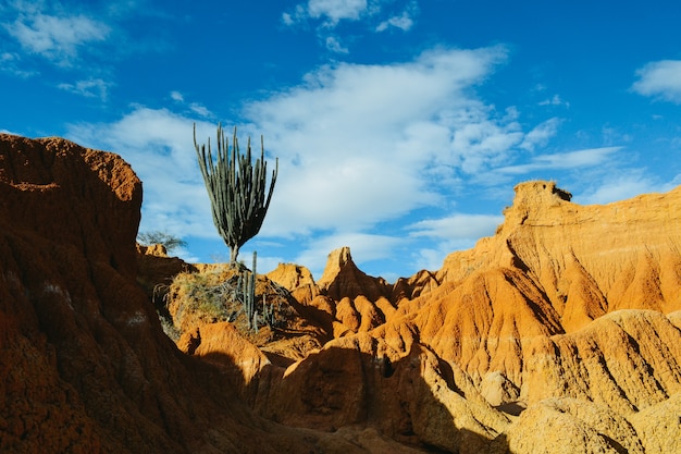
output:
<path id="1" fill-rule="evenodd" d="M 632 89 L 639 95 L 681 103 L 681 60 L 661 60 L 636 71 Z"/>

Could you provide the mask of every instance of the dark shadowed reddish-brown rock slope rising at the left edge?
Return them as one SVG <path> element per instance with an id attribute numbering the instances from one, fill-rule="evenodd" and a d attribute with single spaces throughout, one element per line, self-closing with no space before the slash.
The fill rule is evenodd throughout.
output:
<path id="1" fill-rule="evenodd" d="M 140 203 L 116 155 L 0 134 L 0 452 L 362 452 L 177 351 L 135 282 Z"/>

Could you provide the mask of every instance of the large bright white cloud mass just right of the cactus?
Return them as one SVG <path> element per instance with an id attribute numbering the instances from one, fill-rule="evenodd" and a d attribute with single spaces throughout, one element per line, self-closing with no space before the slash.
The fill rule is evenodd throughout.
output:
<path id="1" fill-rule="evenodd" d="M 441 182 L 430 175 L 482 168 L 520 139 L 468 93 L 504 58 L 502 48 L 437 50 L 407 63 L 325 66 L 248 106 L 280 158 L 263 232 L 363 229 L 437 203 Z"/>

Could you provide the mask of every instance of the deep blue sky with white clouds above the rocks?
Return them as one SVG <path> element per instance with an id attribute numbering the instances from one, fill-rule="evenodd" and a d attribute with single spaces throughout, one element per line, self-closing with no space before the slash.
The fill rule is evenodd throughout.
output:
<path id="1" fill-rule="evenodd" d="M 394 282 L 493 235 L 513 186 L 581 205 L 681 184 L 681 3 L 0 1 L 0 132 L 113 151 L 140 232 L 228 260 L 197 142 L 264 140 L 278 176 L 242 248 L 315 279 L 349 246 Z"/>

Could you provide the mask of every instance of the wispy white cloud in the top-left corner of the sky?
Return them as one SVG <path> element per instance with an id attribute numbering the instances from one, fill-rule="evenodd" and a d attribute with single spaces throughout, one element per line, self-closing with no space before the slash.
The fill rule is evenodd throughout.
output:
<path id="1" fill-rule="evenodd" d="M 24 49 L 64 64 L 77 56 L 79 48 L 102 41 L 110 33 L 107 24 L 82 14 L 22 14 L 13 23 L 4 23 L 3 27 Z"/>

